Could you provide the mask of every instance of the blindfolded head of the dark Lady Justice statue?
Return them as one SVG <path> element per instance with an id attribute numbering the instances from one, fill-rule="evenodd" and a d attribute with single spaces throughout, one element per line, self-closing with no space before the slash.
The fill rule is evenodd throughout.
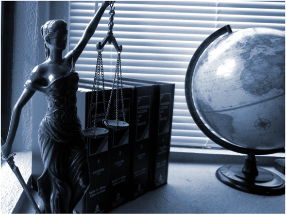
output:
<path id="1" fill-rule="evenodd" d="M 41 27 L 45 40 L 45 55 L 49 58 L 50 48 L 64 50 L 67 46 L 67 22 L 61 19 L 47 21 Z"/>

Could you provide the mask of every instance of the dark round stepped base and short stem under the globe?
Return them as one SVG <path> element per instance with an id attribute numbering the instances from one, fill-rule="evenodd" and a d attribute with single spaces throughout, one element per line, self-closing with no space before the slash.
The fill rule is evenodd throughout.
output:
<path id="1" fill-rule="evenodd" d="M 275 196 L 285 194 L 285 182 L 277 174 L 256 166 L 254 153 L 245 158 L 244 165 L 223 165 L 216 177 L 220 182 L 247 193 Z"/>

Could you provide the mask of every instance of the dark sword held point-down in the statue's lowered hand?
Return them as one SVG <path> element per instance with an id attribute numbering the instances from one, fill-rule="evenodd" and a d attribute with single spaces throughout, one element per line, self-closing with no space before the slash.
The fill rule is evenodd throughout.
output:
<path id="1" fill-rule="evenodd" d="M 3 143 L 4 143 L 4 141 L 1 138 L 1 146 Z M 41 211 L 40 211 L 39 207 L 37 206 L 27 184 L 25 183 L 25 181 L 24 181 L 24 179 L 23 179 L 23 177 L 19 171 L 19 168 L 15 165 L 15 161 L 14 161 L 15 155 L 16 155 L 15 153 L 10 153 L 8 156 L 5 156 L 1 152 L 1 160 L 5 160 L 8 163 L 8 165 L 10 166 L 10 168 L 12 169 L 12 171 L 14 172 L 14 174 L 16 175 L 17 179 L 19 180 L 20 184 L 22 185 L 22 187 L 24 189 L 25 194 L 27 195 L 29 201 L 32 203 L 33 208 L 36 211 L 36 214 L 41 214 Z"/>

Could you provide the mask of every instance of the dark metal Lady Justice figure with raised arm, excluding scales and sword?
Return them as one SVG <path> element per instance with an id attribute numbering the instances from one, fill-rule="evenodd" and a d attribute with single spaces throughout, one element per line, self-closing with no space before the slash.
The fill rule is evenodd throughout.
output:
<path id="1" fill-rule="evenodd" d="M 47 60 L 34 67 L 12 112 L 7 140 L 1 146 L 4 157 L 11 153 L 23 106 L 37 90 L 47 98 L 47 113 L 38 131 L 45 167 L 37 181 L 42 213 L 72 213 L 89 186 L 87 149 L 76 107 L 79 75 L 74 66 L 110 3 L 102 2 L 79 43 L 64 58 L 62 52 L 67 45 L 67 23 L 50 20 L 41 27 Z"/>

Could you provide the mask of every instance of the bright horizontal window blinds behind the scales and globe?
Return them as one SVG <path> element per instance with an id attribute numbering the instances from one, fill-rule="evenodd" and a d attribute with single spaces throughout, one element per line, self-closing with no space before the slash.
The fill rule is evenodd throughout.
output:
<path id="1" fill-rule="evenodd" d="M 73 49 L 100 2 L 71 1 L 70 45 Z M 196 126 L 185 102 L 185 73 L 202 41 L 224 25 L 233 31 L 267 27 L 285 31 L 282 1 L 116 1 L 114 35 L 123 46 L 122 74 L 126 78 L 175 83 L 171 144 L 219 147 Z M 76 64 L 81 78 L 93 78 L 96 43 L 105 37 L 109 21 L 105 11 L 96 33 Z M 111 79 L 117 53 L 112 45 L 102 52 L 106 77 Z"/>

